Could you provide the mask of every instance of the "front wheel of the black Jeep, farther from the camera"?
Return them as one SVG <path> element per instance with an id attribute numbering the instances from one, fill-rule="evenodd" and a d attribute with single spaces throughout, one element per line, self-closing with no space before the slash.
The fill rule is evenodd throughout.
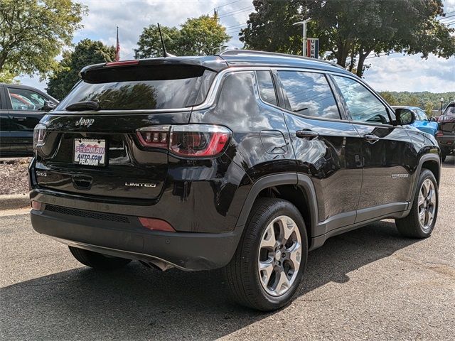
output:
<path id="1" fill-rule="evenodd" d="M 428 186 L 433 191 L 432 193 L 427 189 Z M 438 215 L 438 195 L 436 178 L 431 171 L 423 169 L 420 172 L 410 214 L 405 218 L 395 219 L 400 234 L 410 238 L 427 238 L 432 234 Z M 431 215 L 432 220 L 430 221 Z M 421 217 L 423 221 L 420 219 Z"/>

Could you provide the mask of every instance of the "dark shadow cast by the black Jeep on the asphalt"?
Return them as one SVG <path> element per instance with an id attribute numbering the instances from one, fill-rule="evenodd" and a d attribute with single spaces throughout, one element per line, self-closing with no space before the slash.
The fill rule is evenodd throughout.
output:
<path id="1" fill-rule="evenodd" d="M 392 222 L 329 239 L 309 254 L 298 296 L 416 242 Z M 218 271 L 164 273 L 133 262 L 118 271 L 85 266 L 0 290 L 4 339 L 213 340 L 273 315 L 229 303 Z"/>

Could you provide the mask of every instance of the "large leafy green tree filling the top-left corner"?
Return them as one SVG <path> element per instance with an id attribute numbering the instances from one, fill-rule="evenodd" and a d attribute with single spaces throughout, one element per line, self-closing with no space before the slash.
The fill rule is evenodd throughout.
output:
<path id="1" fill-rule="evenodd" d="M 70 0 L 1 0 L 0 76 L 45 78 L 85 13 L 85 6 Z"/>

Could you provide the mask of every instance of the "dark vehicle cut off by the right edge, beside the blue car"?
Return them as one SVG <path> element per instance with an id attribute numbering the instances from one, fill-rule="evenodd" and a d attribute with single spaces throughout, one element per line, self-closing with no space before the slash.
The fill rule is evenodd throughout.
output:
<path id="1" fill-rule="evenodd" d="M 447 105 L 438 119 L 438 124 L 436 139 L 441 147 L 442 160 L 445 161 L 446 156 L 455 154 L 455 102 Z"/>

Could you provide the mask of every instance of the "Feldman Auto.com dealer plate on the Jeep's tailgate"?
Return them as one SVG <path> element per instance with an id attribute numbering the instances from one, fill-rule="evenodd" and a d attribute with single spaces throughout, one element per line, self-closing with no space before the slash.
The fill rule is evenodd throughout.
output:
<path id="1" fill-rule="evenodd" d="M 73 163 L 80 166 L 106 166 L 106 139 L 74 139 Z"/>

